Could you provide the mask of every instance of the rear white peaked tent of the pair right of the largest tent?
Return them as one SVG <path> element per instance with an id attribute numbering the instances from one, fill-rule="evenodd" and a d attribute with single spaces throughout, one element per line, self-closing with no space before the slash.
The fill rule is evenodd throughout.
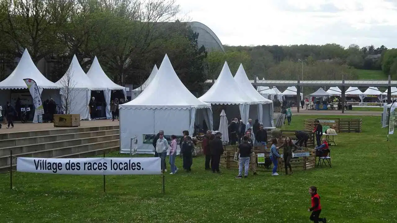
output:
<path id="1" fill-rule="evenodd" d="M 273 127 L 273 101 L 264 98 L 255 90 L 247 77 L 247 73 L 245 73 L 243 64 L 240 64 L 239 69 L 237 69 L 234 80 L 250 98 L 259 103 L 256 105 L 257 112 L 251 109 L 254 105 L 250 106 L 249 117 L 254 120 L 257 118 L 259 123 L 262 123 L 265 127 Z"/>

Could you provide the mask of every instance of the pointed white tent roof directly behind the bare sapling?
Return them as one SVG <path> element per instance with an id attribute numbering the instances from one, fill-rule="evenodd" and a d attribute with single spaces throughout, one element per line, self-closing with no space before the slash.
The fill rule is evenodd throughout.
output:
<path id="1" fill-rule="evenodd" d="M 68 84 L 69 83 L 69 84 Z M 72 62 L 69 65 L 65 75 L 55 83 L 60 87 L 70 88 L 88 88 L 90 90 L 104 90 L 104 87 L 95 87 L 91 79 L 85 74 L 77 60 L 76 55 L 73 55 Z"/>

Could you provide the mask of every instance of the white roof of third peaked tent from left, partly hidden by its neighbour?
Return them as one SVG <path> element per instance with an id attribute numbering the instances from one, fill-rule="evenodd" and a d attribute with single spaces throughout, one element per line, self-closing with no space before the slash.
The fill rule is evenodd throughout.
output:
<path id="1" fill-rule="evenodd" d="M 110 90 L 123 90 L 125 87 L 115 84 L 109 79 L 108 75 L 103 71 L 102 67 L 98 62 L 98 58 L 94 57 L 94 61 L 91 64 L 90 69 L 87 72 L 87 76 L 91 79 L 94 87 L 107 88 Z"/>

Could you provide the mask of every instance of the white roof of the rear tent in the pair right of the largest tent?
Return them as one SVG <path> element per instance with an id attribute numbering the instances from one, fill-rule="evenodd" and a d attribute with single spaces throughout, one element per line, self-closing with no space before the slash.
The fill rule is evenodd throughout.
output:
<path id="1" fill-rule="evenodd" d="M 252 86 L 251 81 L 248 79 L 247 74 L 245 73 L 243 64 L 240 63 L 239 69 L 237 69 L 237 73 L 234 76 L 234 80 L 239 84 L 241 89 L 253 100 L 258 101 L 261 104 L 270 104 L 273 101 L 264 98 L 262 95 L 259 94 Z"/>

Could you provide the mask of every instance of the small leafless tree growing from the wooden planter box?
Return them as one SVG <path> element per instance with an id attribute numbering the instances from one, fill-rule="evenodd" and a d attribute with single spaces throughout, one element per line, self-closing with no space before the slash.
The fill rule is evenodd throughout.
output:
<path id="1" fill-rule="evenodd" d="M 73 64 L 71 64 L 70 67 L 73 67 Z M 74 72 L 70 67 L 67 69 L 65 75 L 60 79 L 60 94 L 65 114 L 70 114 L 72 108 L 76 105 L 75 98 L 77 92 L 74 88 L 77 83 L 73 80 Z"/>

